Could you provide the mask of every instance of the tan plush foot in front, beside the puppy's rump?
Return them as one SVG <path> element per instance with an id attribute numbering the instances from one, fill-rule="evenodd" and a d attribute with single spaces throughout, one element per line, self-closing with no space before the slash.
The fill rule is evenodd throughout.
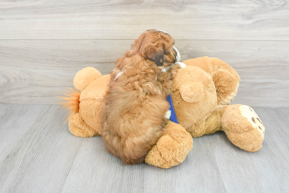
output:
<path id="1" fill-rule="evenodd" d="M 193 148 L 192 136 L 177 123 L 169 121 L 165 133 L 145 158 L 147 164 L 170 168 L 182 163 Z"/>

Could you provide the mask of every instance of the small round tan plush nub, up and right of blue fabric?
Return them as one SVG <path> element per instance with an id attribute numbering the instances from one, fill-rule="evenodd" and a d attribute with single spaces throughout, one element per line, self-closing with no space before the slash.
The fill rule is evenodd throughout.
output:
<path id="1" fill-rule="evenodd" d="M 204 88 L 201 83 L 189 82 L 180 86 L 180 94 L 184 101 L 195 103 L 200 101 L 204 95 Z"/>

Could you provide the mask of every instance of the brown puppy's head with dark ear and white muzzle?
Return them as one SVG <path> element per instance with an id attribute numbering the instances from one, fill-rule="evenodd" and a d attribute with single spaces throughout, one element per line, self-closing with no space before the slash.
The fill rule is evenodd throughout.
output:
<path id="1" fill-rule="evenodd" d="M 157 66 L 168 67 L 180 60 L 180 54 L 174 44 L 175 40 L 167 32 L 150 29 L 134 41 L 132 50 L 144 59 L 152 60 Z"/>

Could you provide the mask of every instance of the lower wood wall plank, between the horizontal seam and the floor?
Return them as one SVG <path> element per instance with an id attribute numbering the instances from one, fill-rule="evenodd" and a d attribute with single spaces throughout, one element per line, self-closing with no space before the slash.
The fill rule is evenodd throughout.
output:
<path id="1" fill-rule="evenodd" d="M 84 67 L 108 74 L 133 40 L 2 40 L 0 103 L 55 104 Z M 176 40 L 181 60 L 217 57 L 241 77 L 233 103 L 289 107 L 286 41 Z"/>

